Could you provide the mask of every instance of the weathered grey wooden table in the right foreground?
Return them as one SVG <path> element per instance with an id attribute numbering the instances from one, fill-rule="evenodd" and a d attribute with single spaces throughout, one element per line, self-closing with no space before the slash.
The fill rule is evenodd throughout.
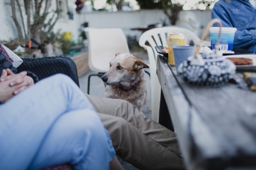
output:
<path id="1" fill-rule="evenodd" d="M 161 55 L 157 75 L 187 169 L 256 168 L 256 92 L 191 86 Z"/>

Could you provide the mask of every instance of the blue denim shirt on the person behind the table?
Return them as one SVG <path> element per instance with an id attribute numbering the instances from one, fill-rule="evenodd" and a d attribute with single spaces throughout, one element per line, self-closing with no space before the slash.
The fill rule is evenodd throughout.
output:
<path id="1" fill-rule="evenodd" d="M 220 0 L 211 11 L 211 18 L 219 18 L 223 27 L 235 27 L 235 47 L 256 52 L 256 9 L 246 0 Z M 214 27 L 219 27 L 218 23 Z"/>

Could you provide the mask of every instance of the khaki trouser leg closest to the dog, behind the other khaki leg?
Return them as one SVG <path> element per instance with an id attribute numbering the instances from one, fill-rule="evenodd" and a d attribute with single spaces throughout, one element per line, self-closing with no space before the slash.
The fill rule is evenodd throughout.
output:
<path id="1" fill-rule="evenodd" d="M 143 134 L 163 145 L 163 147 L 172 151 L 174 154 L 182 157 L 176 133 L 168 130 L 147 116 L 142 115 L 131 103 L 124 100 L 86 95 L 98 113 L 124 118 Z"/>

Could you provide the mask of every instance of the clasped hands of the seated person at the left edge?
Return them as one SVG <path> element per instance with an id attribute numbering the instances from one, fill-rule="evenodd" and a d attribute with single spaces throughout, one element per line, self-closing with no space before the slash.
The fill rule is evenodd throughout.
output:
<path id="1" fill-rule="evenodd" d="M 0 77 L 0 103 L 4 103 L 11 99 L 13 95 L 28 88 L 32 81 L 26 79 L 27 72 L 20 72 L 19 74 L 10 74 L 10 69 L 3 70 Z"/>

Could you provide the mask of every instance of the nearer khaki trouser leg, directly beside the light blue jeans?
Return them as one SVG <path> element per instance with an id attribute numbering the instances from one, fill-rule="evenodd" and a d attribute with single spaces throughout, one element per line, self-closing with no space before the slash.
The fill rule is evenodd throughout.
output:
<path id="1" fill-rule="evenodd" d="M 98 113 L 116 154 L 140 170 L 184 169 L 182 158 L 140 132 L 124 118 Z"/>

